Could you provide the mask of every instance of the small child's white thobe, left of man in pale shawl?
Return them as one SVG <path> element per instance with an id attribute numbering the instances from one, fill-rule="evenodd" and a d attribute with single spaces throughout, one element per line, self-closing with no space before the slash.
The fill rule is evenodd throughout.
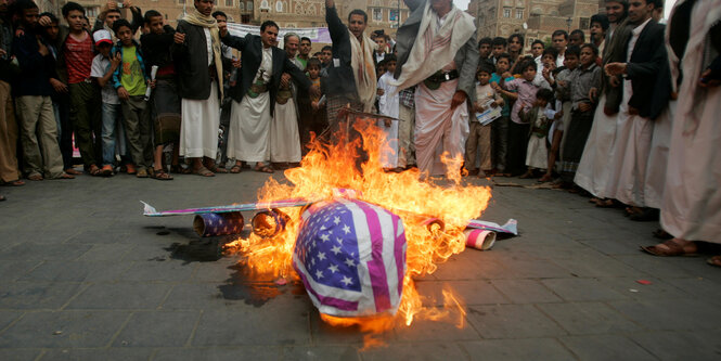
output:
<path id="1" fill-rule="evenodd" d="M 388 82 L 392 74 L 386 73 L 378 79 L 378 89 L 383 89 L 383 95 L 378 99 L 378 113 L 398 119 L 400 96 L 396 87 Z M 378 128 L 384 132 L 385 140 L 381 149 L 381 164 L 384 168 L 398 167 L 398 121 L 391 121 L 386 127 L 384 120 L 378 120 Z"/>

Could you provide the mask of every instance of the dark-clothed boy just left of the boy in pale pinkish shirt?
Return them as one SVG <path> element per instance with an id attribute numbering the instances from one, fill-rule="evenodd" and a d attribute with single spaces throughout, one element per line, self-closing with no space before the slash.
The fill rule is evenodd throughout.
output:
<path id="1" fill-rule="evenodd" d="M 491 123 L 491 158 L 493 170 L 499 177 L 508 177 L 511 173 L 506 172 L 506 156 L 508 152 L 508 123 L 511 117 L 511 101 L 512 98 L 499 91 L 499 85 L 504 81 L 514 79 L 510 75 L 511 55 L 507 53 L 500 54 L 495 60 L 495 73 L 491 74 L 491 87 L 497 94 L 503 99 L 503 107 L 501 108 L 501 117 Z M 503 77 L 503 75 L 506 77 Z"/>

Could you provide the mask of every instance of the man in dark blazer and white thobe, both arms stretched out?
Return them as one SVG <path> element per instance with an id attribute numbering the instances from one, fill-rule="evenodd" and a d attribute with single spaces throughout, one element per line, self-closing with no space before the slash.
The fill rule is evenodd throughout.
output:
<path id="1" fill-rule="evenodd" d="M 260 25 L 260 36 L 235 37 L 222 30 L 222 41 L 243 53 L 241 80 L 231 88 L 230 133 L 228 157 L 236 163 L 231 172 L 241 169 L 242 162 L 255 162 L 255 170 L 273 172 L 270 160 L 269 131 L 275 98 L 283 74 L 291 75 L 295 83 L 310 88 L 310 80 L 287 57 L 285 51 L 275 47 L 278 24 L 267 21 Z"/>

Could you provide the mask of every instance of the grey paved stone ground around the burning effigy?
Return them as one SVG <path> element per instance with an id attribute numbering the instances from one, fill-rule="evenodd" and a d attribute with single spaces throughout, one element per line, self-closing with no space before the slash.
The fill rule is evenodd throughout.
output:
<path id="1" fill-rule="evenodd" d="M 266 179 L 0 188 L 0 360 L 721 358 L 721 270 L 643 255 L 655 224 L 561 191 L 494 188 L 484 219 L 516 218 L 520 236 L 417 282 L 425 295 L 446 284 L 460 293 L 465 327 L 416 321 L 370 350 L 358 330 L 322 323 L 298 286 L 248 283 L 235 256 L 219 255 L 223 240 L 198 240 L 191 217 L 141 216 L 139 199 L 250 202 Z"/>

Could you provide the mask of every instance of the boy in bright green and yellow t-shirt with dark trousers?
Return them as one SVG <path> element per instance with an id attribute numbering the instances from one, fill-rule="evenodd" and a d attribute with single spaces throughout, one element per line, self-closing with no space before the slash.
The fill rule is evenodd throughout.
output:
<path id="1" fill-rule="evenodd" d="M 113 23 L 118 43 L 113 48 L 113 57 L 120 56 L 120 64 L 113 74 L 113 86 L 117 90 L 123 107 L 126 138 L 132 163 L 138 167 L 138 178 L 149 177 L 153 162 L 151 146 L 150 112 L 144 100 L 146 87 L 154 86 L 145 72 L 140 46 L 132 38 L 132 28 L 121 18 Z"/>

